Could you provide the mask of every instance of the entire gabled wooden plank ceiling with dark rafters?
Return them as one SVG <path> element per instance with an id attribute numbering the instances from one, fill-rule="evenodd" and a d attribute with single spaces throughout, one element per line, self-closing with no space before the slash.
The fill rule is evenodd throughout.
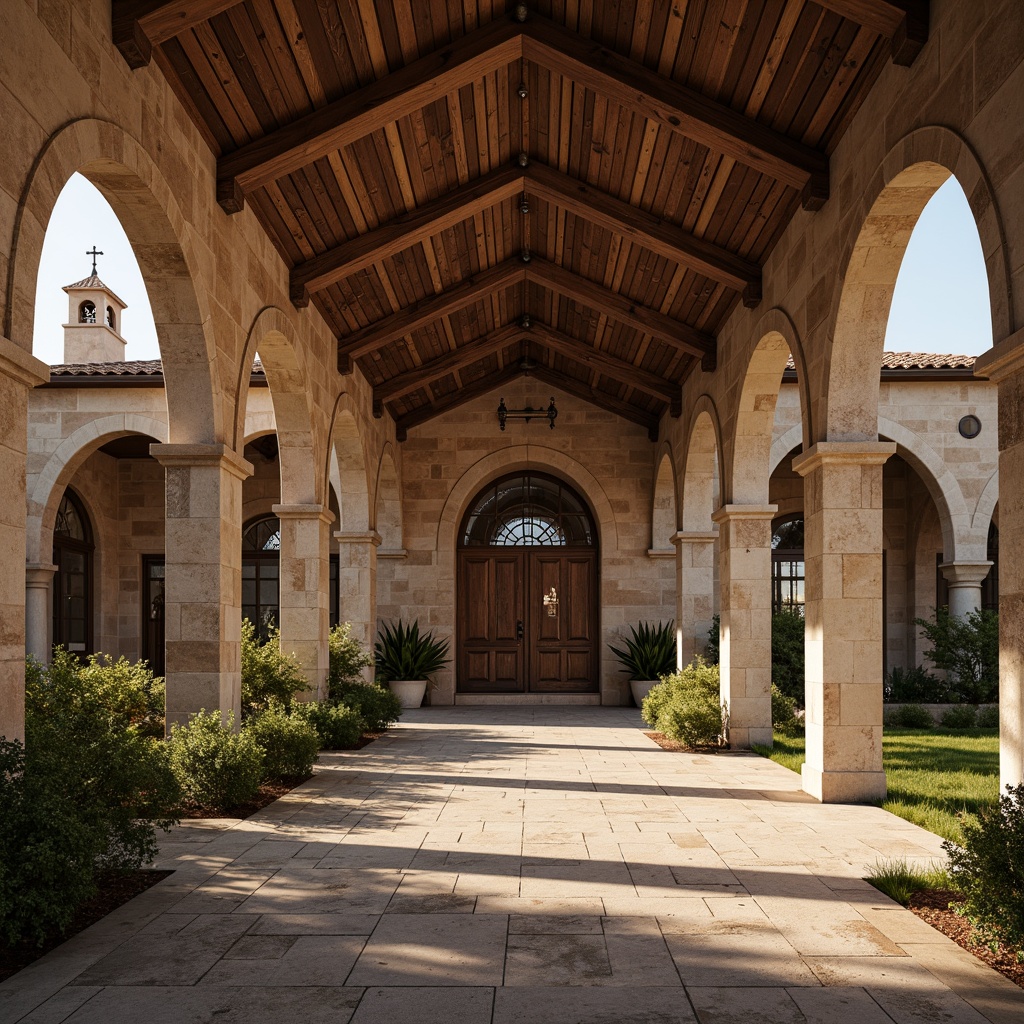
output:
<path id="1" fill-rule="evenodd" d="M 653 436 L 928 0 L 114 0 L 112 24 L 399 437 L 524 372 Z"/>

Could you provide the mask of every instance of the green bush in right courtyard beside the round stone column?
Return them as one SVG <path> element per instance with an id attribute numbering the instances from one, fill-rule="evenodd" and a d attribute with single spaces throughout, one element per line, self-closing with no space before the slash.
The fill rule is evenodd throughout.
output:
<path id="1" fill-rule="evenodd" d="M 964 618 L 936 608 L 934 622 L 915 618 L 932 647 L 925 656 L 944 669 L 967 703 L 988 703 L 999 692 L 999 616 L 979 609 Z"/>

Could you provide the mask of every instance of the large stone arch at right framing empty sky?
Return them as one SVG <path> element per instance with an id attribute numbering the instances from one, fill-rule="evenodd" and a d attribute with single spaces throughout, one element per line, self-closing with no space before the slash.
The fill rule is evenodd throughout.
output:
<path id="1" fill-rule="evenodd" d="M 827 388 L 822 396 L 826 408 L 815 419 L 815 440 L 877 438 L 879 367 L 896 279 L 921 212 L 950 174 L 968 198 L 981 239 L 993 337 L 1001 341 L 1011 334 L 1007 247 L 984 168 L 969 144 L 948 128 L 910 132 L 889 151 L 863 189 L 856 221 L 860 227 L 833 296 Z"/>

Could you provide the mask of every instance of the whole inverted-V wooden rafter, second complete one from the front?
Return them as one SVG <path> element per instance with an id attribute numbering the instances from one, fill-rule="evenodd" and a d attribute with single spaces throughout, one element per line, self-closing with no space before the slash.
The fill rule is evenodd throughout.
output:
<path id="1" fill-rule="evenodd" d="M 469 219 L 481 210 L 526 191 L 645 249 L 671 259 L 743 295 L 743 304 L 761 301 L 761 267 L 721 246 L 706 242 L 669 221 L 637 209 L 614 196 L 561 171 L 531 163 L 523 171 L 495 171 L 343 245 L 292 268 L 292 301 L 309 302 L 309 293 Z"/>

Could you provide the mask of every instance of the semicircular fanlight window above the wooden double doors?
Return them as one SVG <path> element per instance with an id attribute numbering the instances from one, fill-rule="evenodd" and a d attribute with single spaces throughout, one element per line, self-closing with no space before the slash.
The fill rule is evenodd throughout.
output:
<path id="1" fill-rule="evenodd" d="M 596 530 L 584 500 L 542 473 L 506 476 L 477 496 L 460 532 L 463 547 L 593 547 Z"/>

